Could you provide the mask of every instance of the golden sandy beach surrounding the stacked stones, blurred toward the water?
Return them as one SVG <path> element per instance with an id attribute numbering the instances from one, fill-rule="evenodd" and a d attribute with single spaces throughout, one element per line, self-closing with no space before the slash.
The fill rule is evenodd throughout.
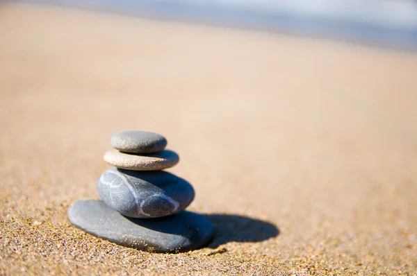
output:
<path id="1" fill-rule="evenodd" d="M 2 3 L 0 274 L 415 275 L 416 72 L 416 53 Z M 207 248 L 69 223 L 121 130 L 179 153 Z"/>

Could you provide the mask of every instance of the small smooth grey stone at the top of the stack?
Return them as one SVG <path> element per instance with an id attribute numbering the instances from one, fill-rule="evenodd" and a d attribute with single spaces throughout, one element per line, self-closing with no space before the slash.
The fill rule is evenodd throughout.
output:
<path id="1" fill-rule="evenodd" d="M 110 144 L 124 153 L 158 153 L 167 146 L 167 139 L 154 132 L 122 131 L 111 137 Z"/>

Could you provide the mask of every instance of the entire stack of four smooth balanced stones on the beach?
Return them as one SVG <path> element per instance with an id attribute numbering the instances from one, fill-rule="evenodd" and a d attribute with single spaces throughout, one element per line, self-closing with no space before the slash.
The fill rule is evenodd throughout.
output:
<path id="1" fill-rule="evenodd" d="M 193 187 L 162 171 L 179 162 L 167 140 L 144 131 L 118 132 L 104 160 L 116 168 L 97 182 L 101 200 L 79 200 L 68 210 L 70 222 L 94 236 L 150 252 L 185 252 L 213 236 L 205 216 L 183 211 Z"/>

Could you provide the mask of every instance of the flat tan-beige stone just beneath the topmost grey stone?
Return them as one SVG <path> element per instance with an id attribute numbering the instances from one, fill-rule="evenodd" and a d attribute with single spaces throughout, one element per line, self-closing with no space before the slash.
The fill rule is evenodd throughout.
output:
<path id="1" fill-rule="evenodd" d="M 110 150 L 104 155 L 104 161 L 117 168 L 132 171 L 159 171 L 175 166 L 179 156 L 172 150 L 162 150 L 159 153 L 138 155 L 136 153 L 121 153 Z"/>

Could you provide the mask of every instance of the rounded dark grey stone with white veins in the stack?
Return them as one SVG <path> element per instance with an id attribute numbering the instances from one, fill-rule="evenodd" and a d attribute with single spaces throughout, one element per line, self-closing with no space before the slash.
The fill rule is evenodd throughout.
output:
<path id="1" fill-rule="evenodd" d="M 190 183 L 172 173 L 115 168 L 100 176 L 97 191 L 106 205 L 132 218 L 177 214 L 195 196 Z"/>

